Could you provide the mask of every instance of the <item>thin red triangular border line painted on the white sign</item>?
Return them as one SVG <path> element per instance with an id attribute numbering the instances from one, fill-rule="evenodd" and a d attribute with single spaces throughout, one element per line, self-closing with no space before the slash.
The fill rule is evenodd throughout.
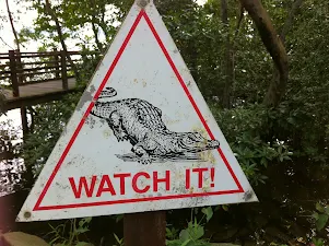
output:
<path id="1" fill-rule="evenodd" d="M 114 61 L 113 61 L 110 68 L 108 69 L 108 71 L 107 71 L 105 78 L 103 79 L 101 86 L 99 86 L 98 90 L 96 91 L 96 93 L 95 93 L 95 95 L 94 95 L 94 97 L 93 97 L 93 101 L 91 102 L 91 104 L 90 104 L 90 106 L 87 107 L 85 114 L 83 115 L 83 117 L 82 117 L 80 124 L 78 125 L 78 127 L 77 127 L 77 129 L 75 129 L 75 131 L 74 131 L 72 138 L 70 139 L 70 141 L 69 141 L 67 148 L 64 149 L 62 155 L 60 156 L 60 159 L 59 159 L 59 161 L 58 161 L 58 163 L 57 163 L 55 169 L 52 171 L 52 173 L 51 173 L 51 175 L 50 175 L 48 181 L 46 183 L 46 185 L 45 185 L 45 187 L 44 187 L 42 194 L 39 195 L 39 197 L 38 197 L 38 199 L 37 199 L 37 201 L 36 201 L 36 203 L 35 203 L 35 207 L 34 207 L 33 211 L 45 211 L 45 210 L 48 210 L 48 211 L 49 211 L 49 210 L 60 210 L 60 209 L 86 208 L 86 207 L 96 207 L 96 206 L 109 206 L 109 204 L 120 204 L 120 203 L 131 203 L 131 202 L 142 202 L 142 201 L 155 201 L 155 200 L 180 199 L 180 198 L 192 198 L 192 197 L 204 197 L 204 196 L 218 196 L 218 195 L 232 195 L 232 194 L 240 194 L 240 192 L 244 192 L 244 189 L 243 189 L 243 187 L 242 187 L 239 180 L 237 179 L 237 177 L 236 177 L 236 175 L 234 174 L 234 172 L 233 172 L 233 169 L 232 169 L 232 167 L 231 167 L 231 165 L 230 165 L 227 159 L 225 157 L 223 151 L 222 151 L 221 148 L 220 148 L 220 149 L 218 149 L 218 151 L 219 151 L 219 153 L 220 153 L 220 155 L 221 155 L 223 162 L 225 163 L 225 165 L 226 165 L 226 167 L 227 167 L 230 174 L 232 175 L 232 177 L 233 177 L 233 179 L 234 179 L 234 181 L 235 181 L 235 184 L 236 184 L 236 186 L 237 186 L 238 189 L 235 189 L 235 190 L 221 190 L 221 191 L 213 191 L 213 192 L 169 195 L 169 196 L 162 196 L 162 197 L 148 197 L 148 198 L 136 198 L 136 199 L 114 200 L 114 201 L 98 201 L 98 202 L 85 202 L 85 203 L 74 203 L 74 204 L 61 204 L 61 206 L 40 206 L 40 203 L 42 203 L 42 201 L 44 200 L 44 198 L 45 198 L 45 196 L 46 196 L 46 194 L 47 194 L 47 191 L 48 191 L 48 189 L 49 189 L 49 187 L 50 187 L 50 185 L 51 185 L 51 183 L 52 183 L 55 176 L 57 175 L 59 168 L 61 167 L 61 164 L 63 163 L 63 161 L 64 161 L 67 154 L 69 153 L 69 151 L 70 151 L 72 144 L 74 143 L 74 141 L 75 141 L 75 139 L 77 139 L 77 137 L 78 137 L 78 134 L 79 134 L 81 128 L 83 127 L 83 125 L 84 125 L 84 122 L 85 122 L 85 119 L 87 118 L 87 116 L 90 115 L 90 112 L 91 112 L 92 108 L 94 107 L 96 99 L 98 98 L 101 92 L 103 91 L 105 84 L 107 83 L 109 77 L 111 75 L 111 73 L 113 73 L 113 71 L 114 71 L 114 69 L 115 69 L 115 67 L 117 66 L 117 63 L 118 63 L 118 61 L 119 61 L 121 55 L 124 54 L 124 51 L 125 51 L 125 49 L 126 49 L 126 47 L 127 47 L 127 45 L 128 45 L 128 43 L 129 43 L 129 40 L 130 40 L 132 34 L 134 33 L 134 31 L 136 31 L 136 28 L 137 28 L 137 26 L 138 26 L 138 24 L 140 23 L 140 21 L 141 21 L 142 17 L 144 17 L 144 20 L 146 21 L 149 27 L 151 28 L 151 31 L 152 31 L 152 33 L 153 33 L 153 35 L 154 35 L 154 37 L 155 37 L 155 39 L 156 39 L 158 46 L 161 47 L 161 49 L 162 49 L 164 56 L 165 56 L 166 59 L 168 60 L 168 62 L 169 62 L 172 69 L 174 70 L 174 72 L 175 72 L 175 74 L 176 74 L 176 77 L 177 77 L 177 79 L 178 79 L 178 81 L 179 81 L 181 87 L 184 89 L 184 91 L 185 91 L 186 95 L 188 96 L 190 103 L 192 104 L 192 106 L 193 106 L 196 113 L 198 114 L 200 120 L 202 121 L 202 125 L 204 126 L 204 128 L 205 128 L 205 130 L 207 130 L 209 137 L 210 137 L 211 139 L 214 139 L 213 133 L 211 132 L 209 126 L 207 125 L 207 122 L 205 122 L 205 120 L 204 120 L 204 118 L 203 118 L 201 112 L 199 110 L 199 108 L 198 108 L 198 106 L 197 106 L 195 99 L 192 98 L 191 94 L 189 93 L 188 87 L 187 87 L 186 84 L 184 83 L 184 80 L 183 80 L 181 75 L 179 74 L 179 72 L 178 72 L 178 70 L 177 70 L 177 68 L 176 68 L 176 66 L 175 66 L 173 59 L 171 58 L 171 56 L 169 56 L 167 49 L 165 48 L 163 42 L 161 40 L 161 38 L 160 38 L 160 36 L 158 36 L 158 34 L 157 34 L 157 32 L 156 32 L 154 25 L 152 24 L 152 22 L 151 22 L 149 15 L 148 15 L 148 13 L 146 13 L 144 10 L 141 10 L 140 13 L 138 14 L 138 16 L 137 16 L 137 19 L 136 19 L 133 25 L 131 26 L 131 28 L 130 28 L 130 31 L 129 31 L 127 37 L 125 38 L 125 40 L 124 40 L 124 43 L 122 43 L 122 45 L 121 45 L 121 47 L 120 47 L 120 49 L 119 49 L 117 56 L 115 57 L 115 59 L 114 59 Z"/>

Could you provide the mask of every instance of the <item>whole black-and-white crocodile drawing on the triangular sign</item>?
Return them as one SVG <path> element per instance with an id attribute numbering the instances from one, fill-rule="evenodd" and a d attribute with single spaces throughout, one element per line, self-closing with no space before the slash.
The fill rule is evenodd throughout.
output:
<path id="1" fill-rule="evenodd" d="M 199 132 L 175 132 L 167 129 L 162 112 L 140 98 L 108 101 L 117 95 L 113 87 L 106 87 L 91 112 L 105 119 L 117 140 L 129 141 L 133 154 L 117 155 L 124 161 L 143 164 L 154 160 L 199 160 L 197 153 L 220 147 L 218 140 L 208 140 Z"/>

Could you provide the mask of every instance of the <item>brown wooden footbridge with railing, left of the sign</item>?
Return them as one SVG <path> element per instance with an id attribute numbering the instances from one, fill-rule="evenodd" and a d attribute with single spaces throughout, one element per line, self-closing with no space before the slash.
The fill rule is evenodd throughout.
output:
<path id="1" fill-rule="evenodd" d="M 51 101 L 75 87 L 74 65 L 81 62 L 80 51 L 0 54 L 0 84 L 4 89 L 5 109 Z M 48 98 L 47 98 L 48 97 Z M 28 101 L 28 102 L 27 102 Z"/>

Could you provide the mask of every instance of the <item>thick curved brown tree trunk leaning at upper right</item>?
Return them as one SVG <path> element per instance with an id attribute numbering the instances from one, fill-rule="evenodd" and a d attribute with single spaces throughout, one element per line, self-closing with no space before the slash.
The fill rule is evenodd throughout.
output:
<path id="1" fill-rule="evenodd" d="M 275 107 L 281 102 L 289 79 L 287 55 L 284 45 L 277 34 L 268 12 L 262 7 L 260 0 L 239 0 L 243 7 L 248 11 L 255 22 L 260 37 L 267 50 L 270 52 L 275 68 L 278 69 L 278 79 L 274 78 L 269 86 L 263 103 L 268 107 Z"/>

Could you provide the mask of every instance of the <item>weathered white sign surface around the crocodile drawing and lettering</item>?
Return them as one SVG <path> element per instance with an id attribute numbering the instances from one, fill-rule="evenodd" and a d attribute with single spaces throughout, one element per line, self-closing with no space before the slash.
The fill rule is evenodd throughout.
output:
<path id="1" fill-rule="evenodd" d="M 213 137 L 220 141 L 221 151 L 232 171 L 230 172 L 227 164 L 224 163 L 218 150 L 202 152 L 202 161 L 179 162 L 179 160 L 166 160 L 164 162 L 142 164 L 136 162 L 133 157 L 131 161 L 129 159 L 128 161 L 119 159 L 118 155 L 129 157 L 131 144 L 128 141 L 118 142 L 108 124 L 91 114 L 86 116 L 72 143 L 72 136 L 74 136 L 75 129 L 85 116 L 85 112 L 90 107 L 119 49 L 122 47 L 126 37 L 131 32 L 131 27 L 140 11 L 141 8 L 134 4 L 128 13 L 111 47 L 108 49 L 104 60 L 98 65 L 66 131 L 62 132 L 60 140 L 25 201 L 17 221 L 57 220 L 257 201 L 252 188 L 242 172 L 152 2 L 145 7 L 145 13 L 166 47 L 201 115 L 204 117 L 205 124 L 209 126 Z M 177 79 L 177 74 L 175 74 L 144 16 L 138 23 L 106 82 L 106 86 L 114 87 L 117 91 L 117 95 L 110 99 L 142 98 L 161 108 L 162 119 L 169 130 L 177 132 L 198 131 L 204 138 L 210 139 L 209 132 L 207 132 L 204 125 L 186 95 Z M 70 144 L 70 141 L 72 144 Z M 67 150 L 68 145 L 71 145 L 69 150 Z M 58 165 L 62 153 L 66 151 L 68 152 L 67 155 L 62 157 L 62 163 Z M 203 187 L 199 188 L 198 175 L 193 173 L 190 176 L 190 187 L 187 189 L 186 169 L 196 167 L 214 167 L 214 179 L 211 179 L 210 172 L 204 172 L 202 178 Z M 56 172 L 54 173 L 54 171 Z M 144 194 L 138 194 L 133 190 L 131 177 L 126 179 L 126 191 L 125 195 L 121 195 L 120 180 L 113 177 L 114 174 L 129 173 L 133 176 L 140 172 L 148 173 L 152 177 L 153 172 L 157 172 L 158 177 L 163 178 L 166 171 L 171 173 L 169 190 L 166 190 L 164 183 L 160 183 L 158 190 L 154 191 L 151 178 L 140 177 L 137 181 L 138 187 L 150 186 L 150 189 Z M 234 180 L 232 172 L 240 187 Z M 104 191 L 102 196 L 96 196 L 103 175 L 108 175 L 116 195 Z M 77 198 L 72 191 L 69 178 L 78 180 L 81 177 L 85 177 L 86 181 L 91 183 L 92 176 L 97 176 L 93 195 L 89 197 L 85 192 L 82 192 L 81 197 Z M 46 186 L 48 188 L 45 190 Z M 106 189 L 105 186 L 103 188 Z M 235 190 L 235 192 L 225 194 L 227 190 Z M 224 191 L 224 194 L 209 195 L 221 191 Z M 205 192 L 205 195 L 184 197 L 185 195 L 202 192 Z M 168 197 L 168 199 L 164 197 Z M 145 198 L 150 198 L 150 200 L 138 201 L 138 199 Z M 131 202 L 126 202 L 126 200 Z M 104 202 L 108 203 L 104 204 Z M 36 206 L 36 203 L 38 204 Z"/>

